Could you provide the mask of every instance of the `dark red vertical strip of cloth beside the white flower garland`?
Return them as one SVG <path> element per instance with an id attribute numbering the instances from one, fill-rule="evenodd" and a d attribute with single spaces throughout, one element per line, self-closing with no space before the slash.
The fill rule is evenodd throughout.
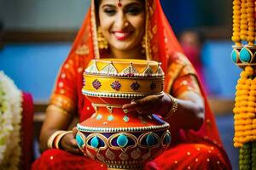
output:
<path id="1" fill-rule="evenodd" d="M 24 170 L 31 169 L 32 164 L 32 140 L 33 140 L 33 101 L 32 95 L 23 93 L 22 121 L 21 121 L 21 167 Z"/>

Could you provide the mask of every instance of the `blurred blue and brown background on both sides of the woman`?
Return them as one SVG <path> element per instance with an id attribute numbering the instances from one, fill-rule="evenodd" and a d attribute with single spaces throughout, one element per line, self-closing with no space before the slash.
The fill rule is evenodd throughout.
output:
<path id="1" fill-rule="evenodd" d="M 230 59 L 232 1 L 161 3 L 185 54 L 200 72 L 225 150 L 233 168 L 238 169 L 232 108 L 240 69 Z M 89 0 L 0 0 L 0 71 L 21 90 L 32 94 L 35 141 L 55 76 L 89 6 Z M 34 147 L 38 156 L 37 143 Z"/>

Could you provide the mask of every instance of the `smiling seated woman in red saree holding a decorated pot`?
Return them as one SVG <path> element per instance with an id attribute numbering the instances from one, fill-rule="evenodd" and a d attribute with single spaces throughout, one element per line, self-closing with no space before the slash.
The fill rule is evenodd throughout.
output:
<path id="1" fill-rule="evenodd" d="M 61 150 L 46 150 L 33 169 L 106 169 L 79 156 L 74 133 L 60 131 L 67 130 L 73 116 L 82 122 L 93 114 L 90 101 L 81 93 L 83 71 L 90 59 L 100 57 L 154 59 L 166 71 L 164 96 L 148 96 L 123 106 L 140 114 L 158 111 L 171 124 L 170 149 L 145 169 L 230 169 L 195 70 L 181 52 L 159 0 L 92 0 L 61 67 L 41 131 L 43 150 L 47 142 Z"/>

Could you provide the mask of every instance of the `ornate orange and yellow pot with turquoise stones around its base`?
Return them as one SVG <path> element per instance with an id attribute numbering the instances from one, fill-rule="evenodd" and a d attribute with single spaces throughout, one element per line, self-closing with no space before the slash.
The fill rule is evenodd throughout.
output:
<path id="1" fill-rule="evenodd" d="M 169 124 L 148 115 L 127 113 L 131 99 L 163 93 L 160 63 L 139 59 L 93 59 L 84 71 L 83 94 L 95 114 L 77 125 L 80 150 L 108 169 L 141 169 L 171 143 Z"/>

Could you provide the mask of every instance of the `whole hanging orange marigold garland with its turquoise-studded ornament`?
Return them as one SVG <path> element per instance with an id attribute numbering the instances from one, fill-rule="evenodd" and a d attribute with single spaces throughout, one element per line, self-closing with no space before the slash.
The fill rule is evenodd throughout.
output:
<path id="1" fill-rule="evenodd" d="M 233 0 L 232 60 L 240 66 L 236 85 L 234 146 L 239 168 L 256 170 L 256 0 Z"/>

